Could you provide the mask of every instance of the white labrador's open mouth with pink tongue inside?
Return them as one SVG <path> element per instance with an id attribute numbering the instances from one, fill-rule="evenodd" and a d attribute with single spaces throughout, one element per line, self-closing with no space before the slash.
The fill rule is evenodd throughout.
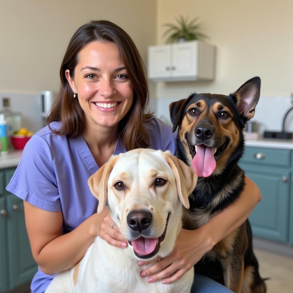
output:
<path id="1" fill-rule="evenodd" d="M 159 252 L 161 242 L 165 239 L 166 236 L 169 217 L 170 213 L 168 214 L 168 217 L 166 219 L 165 230 L 159 238 L 145 238 L 141 236 L 138 239 L 128 241 L 128 243 L 133 247 L 133 252 L 137 257 L 143 259 L 151 258 Z"/>

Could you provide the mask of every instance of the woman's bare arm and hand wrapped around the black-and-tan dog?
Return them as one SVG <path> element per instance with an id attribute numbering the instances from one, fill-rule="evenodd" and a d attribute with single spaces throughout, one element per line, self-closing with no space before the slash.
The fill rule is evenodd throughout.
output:
<path id="1" fill-rule="evenodd" d="M 199 229 L 194 231 L 182 229 L 176 240 L 173 253 L 168 258 L 142 271 L 141 276 L 148 277 L 155 274 L 148 278 L 148 282 L 163 279 L 162 282 L 166 284 L 178 280 L 215 244 L 243 224 L 260 199 L 258 187 L 245 176 L 245 188 L 236 202 Z M 139 265 L 147 263 L 140 261 Z M 162 271 L 159 272 L 160 270 Z M 173 276 L 168 277 L 174 272 L 176 273 Z"/>

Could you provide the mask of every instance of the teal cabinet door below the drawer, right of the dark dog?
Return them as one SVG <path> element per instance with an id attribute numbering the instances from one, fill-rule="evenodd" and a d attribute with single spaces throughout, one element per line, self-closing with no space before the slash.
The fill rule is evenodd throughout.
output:
<path id="1" fill-rule="evenodd" d="M 249 220 L 253 235 L 287 243 L 289 222 L 289 178 L 285 168 L 240 164 L 262 195 Z M 287 178 L 287 180 L 284 180 Z"/>

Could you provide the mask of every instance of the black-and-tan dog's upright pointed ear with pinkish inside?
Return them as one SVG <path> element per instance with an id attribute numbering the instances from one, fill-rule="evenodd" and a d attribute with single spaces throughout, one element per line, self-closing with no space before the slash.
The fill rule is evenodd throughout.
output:
<path id="1" fill-rule="evenodd" d="M 260 95 L 260 78 L 256 76 L 249 79 L 231 95 L 236 100 L 237 108 L 245 122 L 250 120 L 254 116 Z"/>

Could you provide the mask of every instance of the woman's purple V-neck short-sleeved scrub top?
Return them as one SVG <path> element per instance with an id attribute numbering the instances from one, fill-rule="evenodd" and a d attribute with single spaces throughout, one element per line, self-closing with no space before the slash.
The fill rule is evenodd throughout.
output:
<path id="1" fill-rule="evenodd" d="M 60 125 L 52 122 L 50 127 L 58 129 Z M 170 125 L 153 117 L 144 126 L 150 149 L 170 150 L 175 154 L 176 133 Z M 125 151 L 118 139 L 114 155 Z M 52 133 L 46 126 L 26 144 L 6 190 L 46 211 L 62 211 L 63 231 L 67 233 L 97 211 L 98 200 L 91 194 L 87 181 L 98 169 L 82 135 L 67 138 Z M 32 293 L 44 292 L 53 277 L 39 268 L 31 284 Z"/>

